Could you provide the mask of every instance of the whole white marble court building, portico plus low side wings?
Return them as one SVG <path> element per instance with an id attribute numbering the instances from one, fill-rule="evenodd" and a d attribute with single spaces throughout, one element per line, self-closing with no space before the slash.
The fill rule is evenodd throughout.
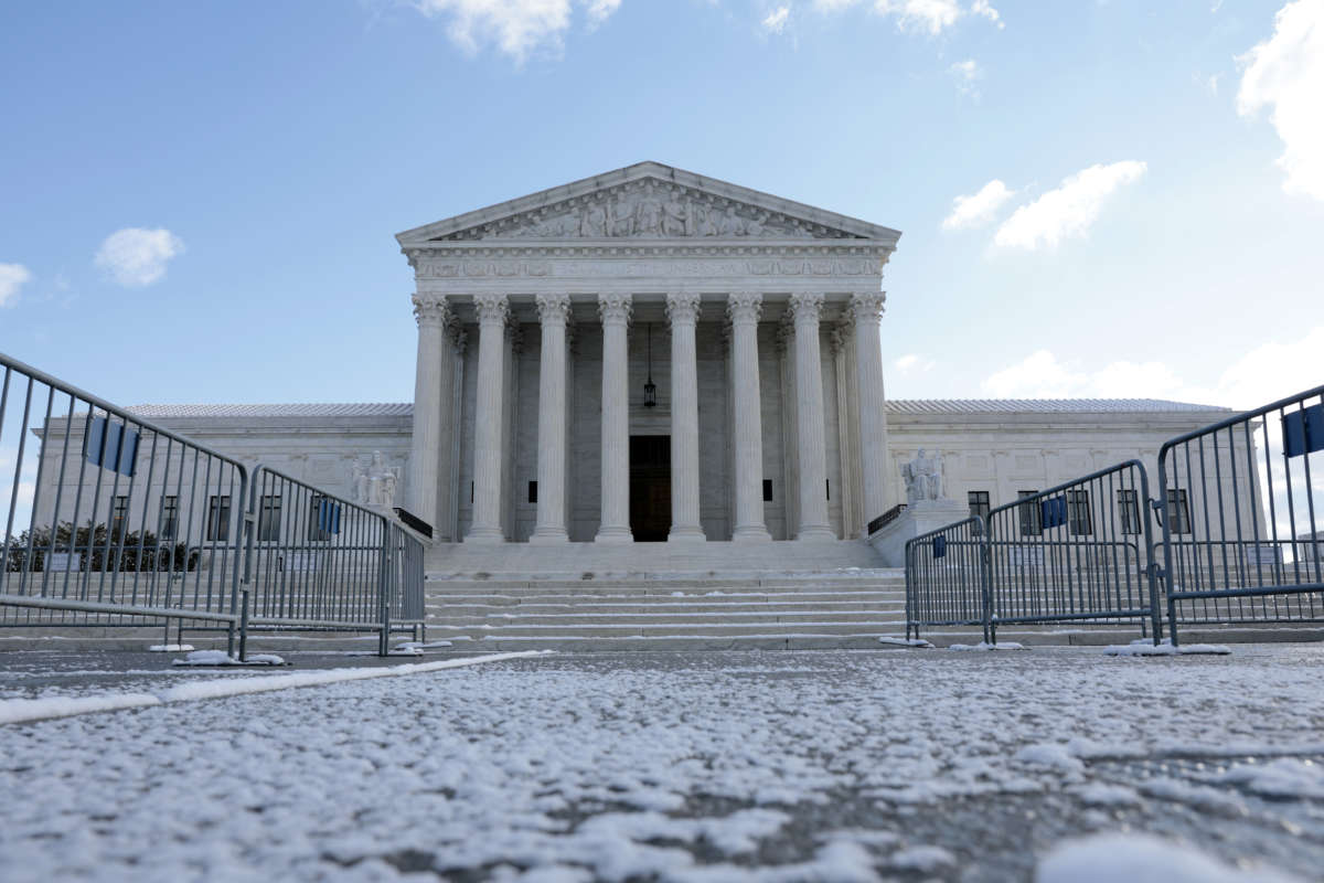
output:
<path id="1" fill-rule="evenodd" d="M 869 523 L 904 502 L 922 447 L 947 496 L 986 511 L 1124 459 L 1153 469 L 1164 440 L 1226 413 L 890 401 L 882 277 L 899 237 L 639 163 L 396 237 L 416 281 L 397 304 L 417 319 L 412 404 L 135 410 L 408 510 L 433 528 L 430 569 L 572 549 L 575 567 L 869 567 Z"/>

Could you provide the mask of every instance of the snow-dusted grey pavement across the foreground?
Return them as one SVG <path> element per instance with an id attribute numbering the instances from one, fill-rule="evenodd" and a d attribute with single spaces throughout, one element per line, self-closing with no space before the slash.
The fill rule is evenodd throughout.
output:
<path id="1" fill-rule="evenodd" d="M 1321 674 L 1316 647 L 555 654 L 11 724 L 0 879 L 1316 879 Z"/>

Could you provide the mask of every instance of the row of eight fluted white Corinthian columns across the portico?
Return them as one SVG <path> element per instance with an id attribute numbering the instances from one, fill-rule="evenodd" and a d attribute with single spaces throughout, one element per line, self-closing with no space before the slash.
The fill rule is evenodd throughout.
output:
<path id="1" fill-rule="evenodd" d="M 500 543 L 502 428 L 504 330 L 510 303 L 503 294 L 473 298 L 478 315 L 478 377 L 474 425 L 474 500 L 467 543 Z M 833 540 L 828 522 L 826 451 L 824 442 L 822 369 L 818 323 L 824 295 L 794 294 L 789 310 L 794 327 L 796 437 L 798 441 L 797 540 Z M 564 543 L 567 534 L 567 328 L 571 299 L 564 294 L 536 297 L 542 323 L 542 363 L 538 405 L 538 520 L 531 543 Z M 887 495 L 886 416 L 883 413 L 879 320 L 882 293 L 857 294 L 849 306 L 857 342 L 861 404 L 861 466 L 865 518 L 882 514 Z M 633 301 L 629 294 L 598 297 L 602 322 L 601 522 L 598 543 L 630 543 L 629 389 L 626 331 Z M 759 385 L 759 318 L 763 295 L 733 293 L 727 298 L 731 323 L 735 527 L 732 539 L 772 539 L 763 515 L 763 418 Z M 699 391 L 695 330 L 699 295 L 669 294 L 671 326 L 671 541 L 706 539 L 699 522 Z M 441 428 L 453 388 L 446 376 L 451 360 L 440 359 L 451 322 L 445 298 L 414 298 L 418 319 L 418 364 L 414 381 L 414 428 L 410 508 L 430 524 L 437 520 Z M 453 371 L 453 368 L 450 368 Z"/>

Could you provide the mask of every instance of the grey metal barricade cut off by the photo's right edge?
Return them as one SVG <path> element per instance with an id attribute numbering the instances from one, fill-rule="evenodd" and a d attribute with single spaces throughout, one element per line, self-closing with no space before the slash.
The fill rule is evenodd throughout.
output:
<path id="1" fill-rule="evenodd" d="M 1324 621 L 1324 387 L 1164 443 L 1164 579 L 1178 622 Z"/>

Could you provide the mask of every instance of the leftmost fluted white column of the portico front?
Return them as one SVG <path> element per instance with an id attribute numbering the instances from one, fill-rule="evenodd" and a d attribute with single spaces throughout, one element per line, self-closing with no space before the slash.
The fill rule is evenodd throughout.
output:
<path id="1" fill-rule="evenodd" d="M 450 377 L 454 371 L 446 352 L 450 312 L 446 310 L 446 298 L 440 294 L 416 294 L 413 304 L 414 319 L 418 322 L 418 357 L 414 367 L 414 425 L 409 447 L 409 511 L 428 522 L 433 536 L 437 536 L 441 424 L 450 414 Z"/>

